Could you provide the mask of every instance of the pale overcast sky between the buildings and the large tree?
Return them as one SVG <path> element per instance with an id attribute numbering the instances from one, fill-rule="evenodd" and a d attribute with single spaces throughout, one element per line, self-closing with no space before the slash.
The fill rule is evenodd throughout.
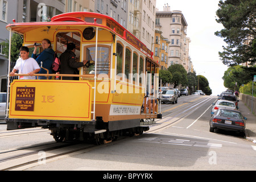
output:
<path id="1" fill-rule="evenodd" d="M 222 24 L 215 20 L 218 0 L 156 0 L 156 8 L 163 11 L 163 6 L 167 3 L 171 11 L 182 11 L 188 23 L 187 36 L 191 39 L 189 56 L 196 75 L 206 77 L 212 95 L 217 96 L 226 89 L 222 77 L 228 69 L 218 57 L 218 52 L 222 52 L 225 42 L 214 35 L 214 32 L 223 28 Z"/>

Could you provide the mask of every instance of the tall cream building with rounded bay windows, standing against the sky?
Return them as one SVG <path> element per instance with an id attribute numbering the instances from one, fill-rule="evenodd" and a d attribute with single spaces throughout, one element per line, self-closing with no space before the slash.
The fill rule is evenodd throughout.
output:
<path id="1" fill-rule="evenodd" d="M 156 11 L 155 27 L 163 32 L 163 36 L 170 40 L 168 47 L 169 65 L 181 64 L 187 72 L 191 69 L 189 59 L 189 43 L 187 37 L 187 22 L 179 10 L 170 10 L 170 6 L 164 6 L 163 11 Z"/>

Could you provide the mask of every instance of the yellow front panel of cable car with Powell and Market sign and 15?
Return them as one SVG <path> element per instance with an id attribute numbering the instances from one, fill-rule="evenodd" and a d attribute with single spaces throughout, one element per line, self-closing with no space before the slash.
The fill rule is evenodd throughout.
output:
<path id="1" fill-rule="evenodd" d="M 90 121 L 89 81 L 14 80 L 9 118 Z"/>

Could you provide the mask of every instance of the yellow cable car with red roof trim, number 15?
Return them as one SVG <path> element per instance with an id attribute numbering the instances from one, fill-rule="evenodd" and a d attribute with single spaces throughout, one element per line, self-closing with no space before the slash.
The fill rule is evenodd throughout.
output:
<path id="1" fill-rule="evenodd" d="M 162 118 L 157 101 L 160 65 L 113 18 L 73 12 L 56 15 L 51 22 L 14 22 L 6 28 L 10 39 L 11 32 L 23 36 L 23 46 L 49 39 L 59 55 L 74 43 L 77 61 L 88 61 L 79 74 L 36 74 L 46 80 L 19 79 L 10 84 L 9 75 L 8 130 L 42 126 L 57 142 L 74 135 L 108 141 L 121 134 L 142 134 L 155 118 Z"/>

